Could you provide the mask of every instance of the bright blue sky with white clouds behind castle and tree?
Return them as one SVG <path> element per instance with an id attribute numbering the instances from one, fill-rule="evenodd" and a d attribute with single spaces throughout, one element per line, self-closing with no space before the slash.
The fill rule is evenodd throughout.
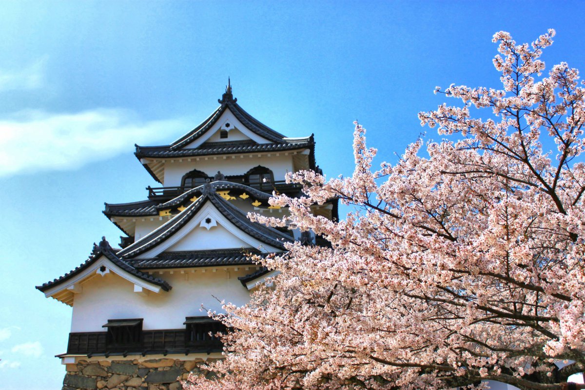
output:
<path id="1" fill-rule="evenodd" d="M 103 202 L 155 185 L 133 144 L 197 125 L 228 76 L 246 111 L 315 133 L 325 173 L 348 175 L 354 120 L 395 161 L 427 130 L 417 113 L 442 102 L 435 85 L 497 88 L 498 30 L 529 42 L 552 27 L 547 65 L 583 70 L 583 13 L 569 1 L 2 2 L 0 390 L 60 388 L 71 309 L 35 285 L 102 235 L 118 243 Z"/>

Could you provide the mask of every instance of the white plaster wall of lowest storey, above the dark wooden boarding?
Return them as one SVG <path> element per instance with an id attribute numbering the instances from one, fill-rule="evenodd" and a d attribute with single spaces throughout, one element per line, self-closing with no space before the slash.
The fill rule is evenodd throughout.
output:
<path id="1" fill-rule="evenodd" d="M 250 300 L 249 292 L 238 280 L 256 268 L 240 268 L 238 271 L 212 272 L 207 268 L 187 270 L 185 274 L 174 271 L 156 277 L 166 280 L 173 288 L 159 294 L 150 292 L 141 296 L 133 291 L 134 285 L 116 274 L 96 275 L 82 284 L 82 292 L 75 295 L 71 332 L 104 332 L 108 319 L 143 318 L 143 329 L 181 329 L 186 316 L 204 316 L 201 305 L 221 312 L 221 303 L 244 305 Z M 217 298 L 214 298 L 214 296 Z"/>

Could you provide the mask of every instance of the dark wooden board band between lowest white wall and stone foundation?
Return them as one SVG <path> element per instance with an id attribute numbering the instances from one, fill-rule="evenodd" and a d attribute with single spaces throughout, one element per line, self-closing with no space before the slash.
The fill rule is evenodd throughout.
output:
<path id="1" fill-rule="evenodd" d="M 223 345 L 218 337 L 204 334 L 193 337 L 186 329 L 143 330 L 140 341 L 133 344 L 108 343 L 108 332 L 70 333 L 68 354 L 91 356 L 129 354 L 190 354 L 220 352 Z"/>

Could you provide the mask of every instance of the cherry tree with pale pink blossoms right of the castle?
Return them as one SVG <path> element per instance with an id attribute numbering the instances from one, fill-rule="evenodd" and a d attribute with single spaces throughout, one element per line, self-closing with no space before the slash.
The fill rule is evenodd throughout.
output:
<path id="1" fill-rule="evenodd" d="M 566 63 L 541 75 L 554 35 L 494 35 L 503 89 L 435 89 L 460 104 L 419 119 L 450 140 L 373 170 L 356 124 L 352 177 L 289 174 L 307 196 L 271 204 L 290 216 L 251 218 L 331 246 L 263 260 L 281 273 L 216 314 L 225 359 L 185 388 L 562 389 L 585 371 L 585 89 Z M 355 212 L 311 213 L 334 196 Z"/>

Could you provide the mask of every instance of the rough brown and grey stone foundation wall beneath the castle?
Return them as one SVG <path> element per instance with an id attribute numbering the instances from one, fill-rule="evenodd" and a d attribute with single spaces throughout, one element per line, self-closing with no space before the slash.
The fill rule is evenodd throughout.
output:
<path id="1" fill-rule="evenodd" d="M 211 361 L 213 359 L 209 359 Z M 179 390 L 189 372 L 211 377 L 213 372 L 199 368 L 202 359 L 175 360 L 80 360 L 67 364 L 61 390 Z"/>

